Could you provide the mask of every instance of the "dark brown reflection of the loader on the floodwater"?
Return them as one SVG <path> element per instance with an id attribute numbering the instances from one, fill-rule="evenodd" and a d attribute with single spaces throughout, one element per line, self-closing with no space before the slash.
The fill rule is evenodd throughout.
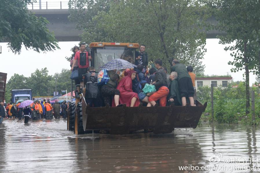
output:
<path id="1" fill-rule="evenodd" d="M 199 165 L 201 149 L 193 137 L 170 135 L 86 135 L 72 138 L 78 170 L 91 172 L 179 171 L 176 165 Z M 93 145 L 94 144 L 94 145 Z"/>

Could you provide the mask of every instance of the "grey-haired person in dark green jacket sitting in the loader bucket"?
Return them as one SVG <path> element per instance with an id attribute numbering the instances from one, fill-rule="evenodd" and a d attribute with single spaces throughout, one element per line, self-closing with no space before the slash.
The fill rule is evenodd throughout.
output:
<path id="1" fill-rule="evenodd" d="M 169 85 L 169 95 L 167 97 L 168 106 L 170 106 L 172 103 L 174 103 L 175 106 L 182 106 L 182 99 L 179 93 L 179 85 L 178 85 L 177 78 L 178 78 L 177 72 L 171 72 L 171 75 L 169 77 L 171 83 Z"/>

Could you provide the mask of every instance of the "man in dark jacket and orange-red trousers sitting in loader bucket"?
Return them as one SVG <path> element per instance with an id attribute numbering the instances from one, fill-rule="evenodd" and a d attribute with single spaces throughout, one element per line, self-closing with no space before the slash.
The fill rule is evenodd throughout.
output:
<path id="1" fill-rule="evenodd" d="M 166 73 L 162 68 L 162 60 L 155 60 L 154 63 L 155 67 L 158 69 L 155 74 L 155 81 L 153 82 L 153 85 L 157 91 L 149 97 L 149 103 L 147 106 L 154 106 L 156 104 L 155 101 L 157 100 L 160 101 L 160 106 L 166 106 L 167 95 L 169 94 L 169 89 L 166 82 Z"/>

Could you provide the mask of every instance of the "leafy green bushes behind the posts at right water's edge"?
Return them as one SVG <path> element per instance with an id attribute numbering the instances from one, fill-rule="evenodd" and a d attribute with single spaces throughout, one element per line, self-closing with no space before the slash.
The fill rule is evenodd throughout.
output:
<path id="1" fill-rule="evenodd" d="M 258 87 L 252 87 L 255 91 L 255 124 L 260 124 L 260 95 Z M 211 113 L 211 98 L 209 87 L 198 87 L 197 99 L 208 102 L 205 113 Z M 214 119 L 218 123 L 227 124 L 252 124 L 252 115 L 246 115 L 246 82 L 239 82 L 235 88 L 232 84 L 228 87 L 214 87 L 213 91 Z M 211 115 L 202 115 L 201 120 L 211 119 Z"/>

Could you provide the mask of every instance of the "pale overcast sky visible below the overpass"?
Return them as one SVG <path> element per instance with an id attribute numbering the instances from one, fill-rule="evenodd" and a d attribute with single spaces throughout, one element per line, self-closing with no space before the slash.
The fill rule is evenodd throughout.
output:
<path id="1" fill-rule="evenodd" d="M 0 54 L 1 68 L 0 72 L 8 73 L 7 78 L 10 79 L 14 73 L 23 74 L 28 77 L 37 68 L 42 69 L 47 67 L 49 74 L 60 73 L 63 68 L 70 69 L 69 62 L 65 56 L 70 56 L 72 52 L 70 48 L 78 45 L 79 42 L 59 42 L 61 49 L 47 52 L 37 53 L 33 50 L 22 48 L 21 54 L 13 54 L 7 47 L 7 43 L 0 43 L 2 46 L 2 54 Z M 149 45 L 147 45 L 149 46 Z M 231 73 L 231 65 L 228 61 L 233 58 L 230 52 L 224 51 L 224 45 L 218 44 L 218 39 L 207 39 L 207 52 L 202 60 L 205 67 L 205 75 L 227 75 L 230 74 L 234 81 L 243 80 L 243 71 Z M 149 52 L 148 52 L 149 54 Z M 250 85 L 255 82 L 255 75 L 250 73 Z"/>

